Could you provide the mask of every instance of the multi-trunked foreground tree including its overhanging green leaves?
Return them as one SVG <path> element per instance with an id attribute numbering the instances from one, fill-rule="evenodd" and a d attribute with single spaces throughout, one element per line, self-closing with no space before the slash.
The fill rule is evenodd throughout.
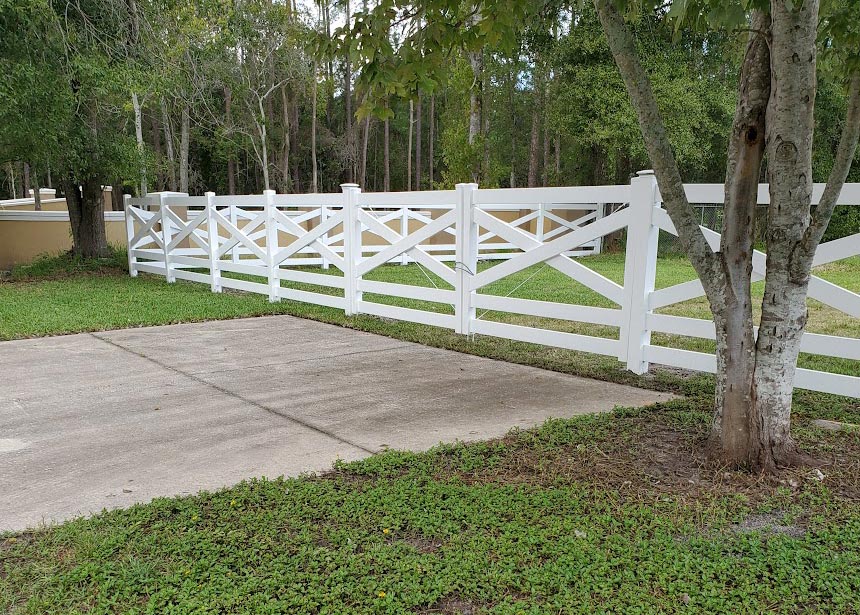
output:
<path id="1" fill-rule="evenodd" d="M 636 113 L 664 205 L 675 224 L 709 300 L 717 330 L 717 378 L 711 433 L 713 455 L 736 466 L 773 471 L 803 461 L 790 435 L 791 398 L 800 339 L 806 324 L 806 296 L 815 250 L 847 177 L 860 135 L 860 5 L 857 0 L 774 0 L 770 6 L 722 0 L 675 0 L 652 6 L 658 19 L 681 28 L 746 31 L 737 104 L 728 139 L 722 239 L 711 249 L 687 201 L 666 124 L 639 60 L 625 13 L 638 18 L 640 3 L 594 0 L 609 49 Z M 666 11 L 668 6 L 668 11 Z M 462 14 L 459 3 L 433 0 L 420 8 L 393 2 L 363 19 L 352 31 L 363 51 L 365 87 L 414 83 L 438 72 L 432 61 L 446 50 L 483 52 L 488 43 L 512 48 L 519 24 L 549 4 L 486 0 Z M 412 33 L 399 49 L 387 43 L 396 10 L 413 15 Z M 479 16 L 479 17 L 478 17 Z M 370 23 L 371 25 L 367 25 Z M 373 25 L 375 23 L 375 25 Z M 421 26 L 433 24 L 433 26 Z M 347 36 L 349 38 L 349 35 Z M 828 70 L 841 75 L 849 91 L 842 136 L 817 207 L 811 206 L 815 92 L 819 47 Z M 397 54 L 409 62 L 403 76 L 376 70 Z M 471 57 L 474 57 L 472 55 Z M 534 139 L 533 139 L 534 140 Z M 770 205 L 765 232 L 767 275 L 758 333 L 752 320 L 751 274 L 757 184 L 767 161 Z"/>

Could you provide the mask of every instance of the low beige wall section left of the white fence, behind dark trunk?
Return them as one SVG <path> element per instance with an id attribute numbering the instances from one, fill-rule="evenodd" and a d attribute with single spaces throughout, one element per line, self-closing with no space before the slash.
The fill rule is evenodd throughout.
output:
<path id="1" fill-rule="evenodd" d="M 125 221 L 105 222 L 108 243 L 125 244 Z M 71 250 L 68 220 L 0 220 L 0 269 L 29 263 L 42 254 Z"/>

